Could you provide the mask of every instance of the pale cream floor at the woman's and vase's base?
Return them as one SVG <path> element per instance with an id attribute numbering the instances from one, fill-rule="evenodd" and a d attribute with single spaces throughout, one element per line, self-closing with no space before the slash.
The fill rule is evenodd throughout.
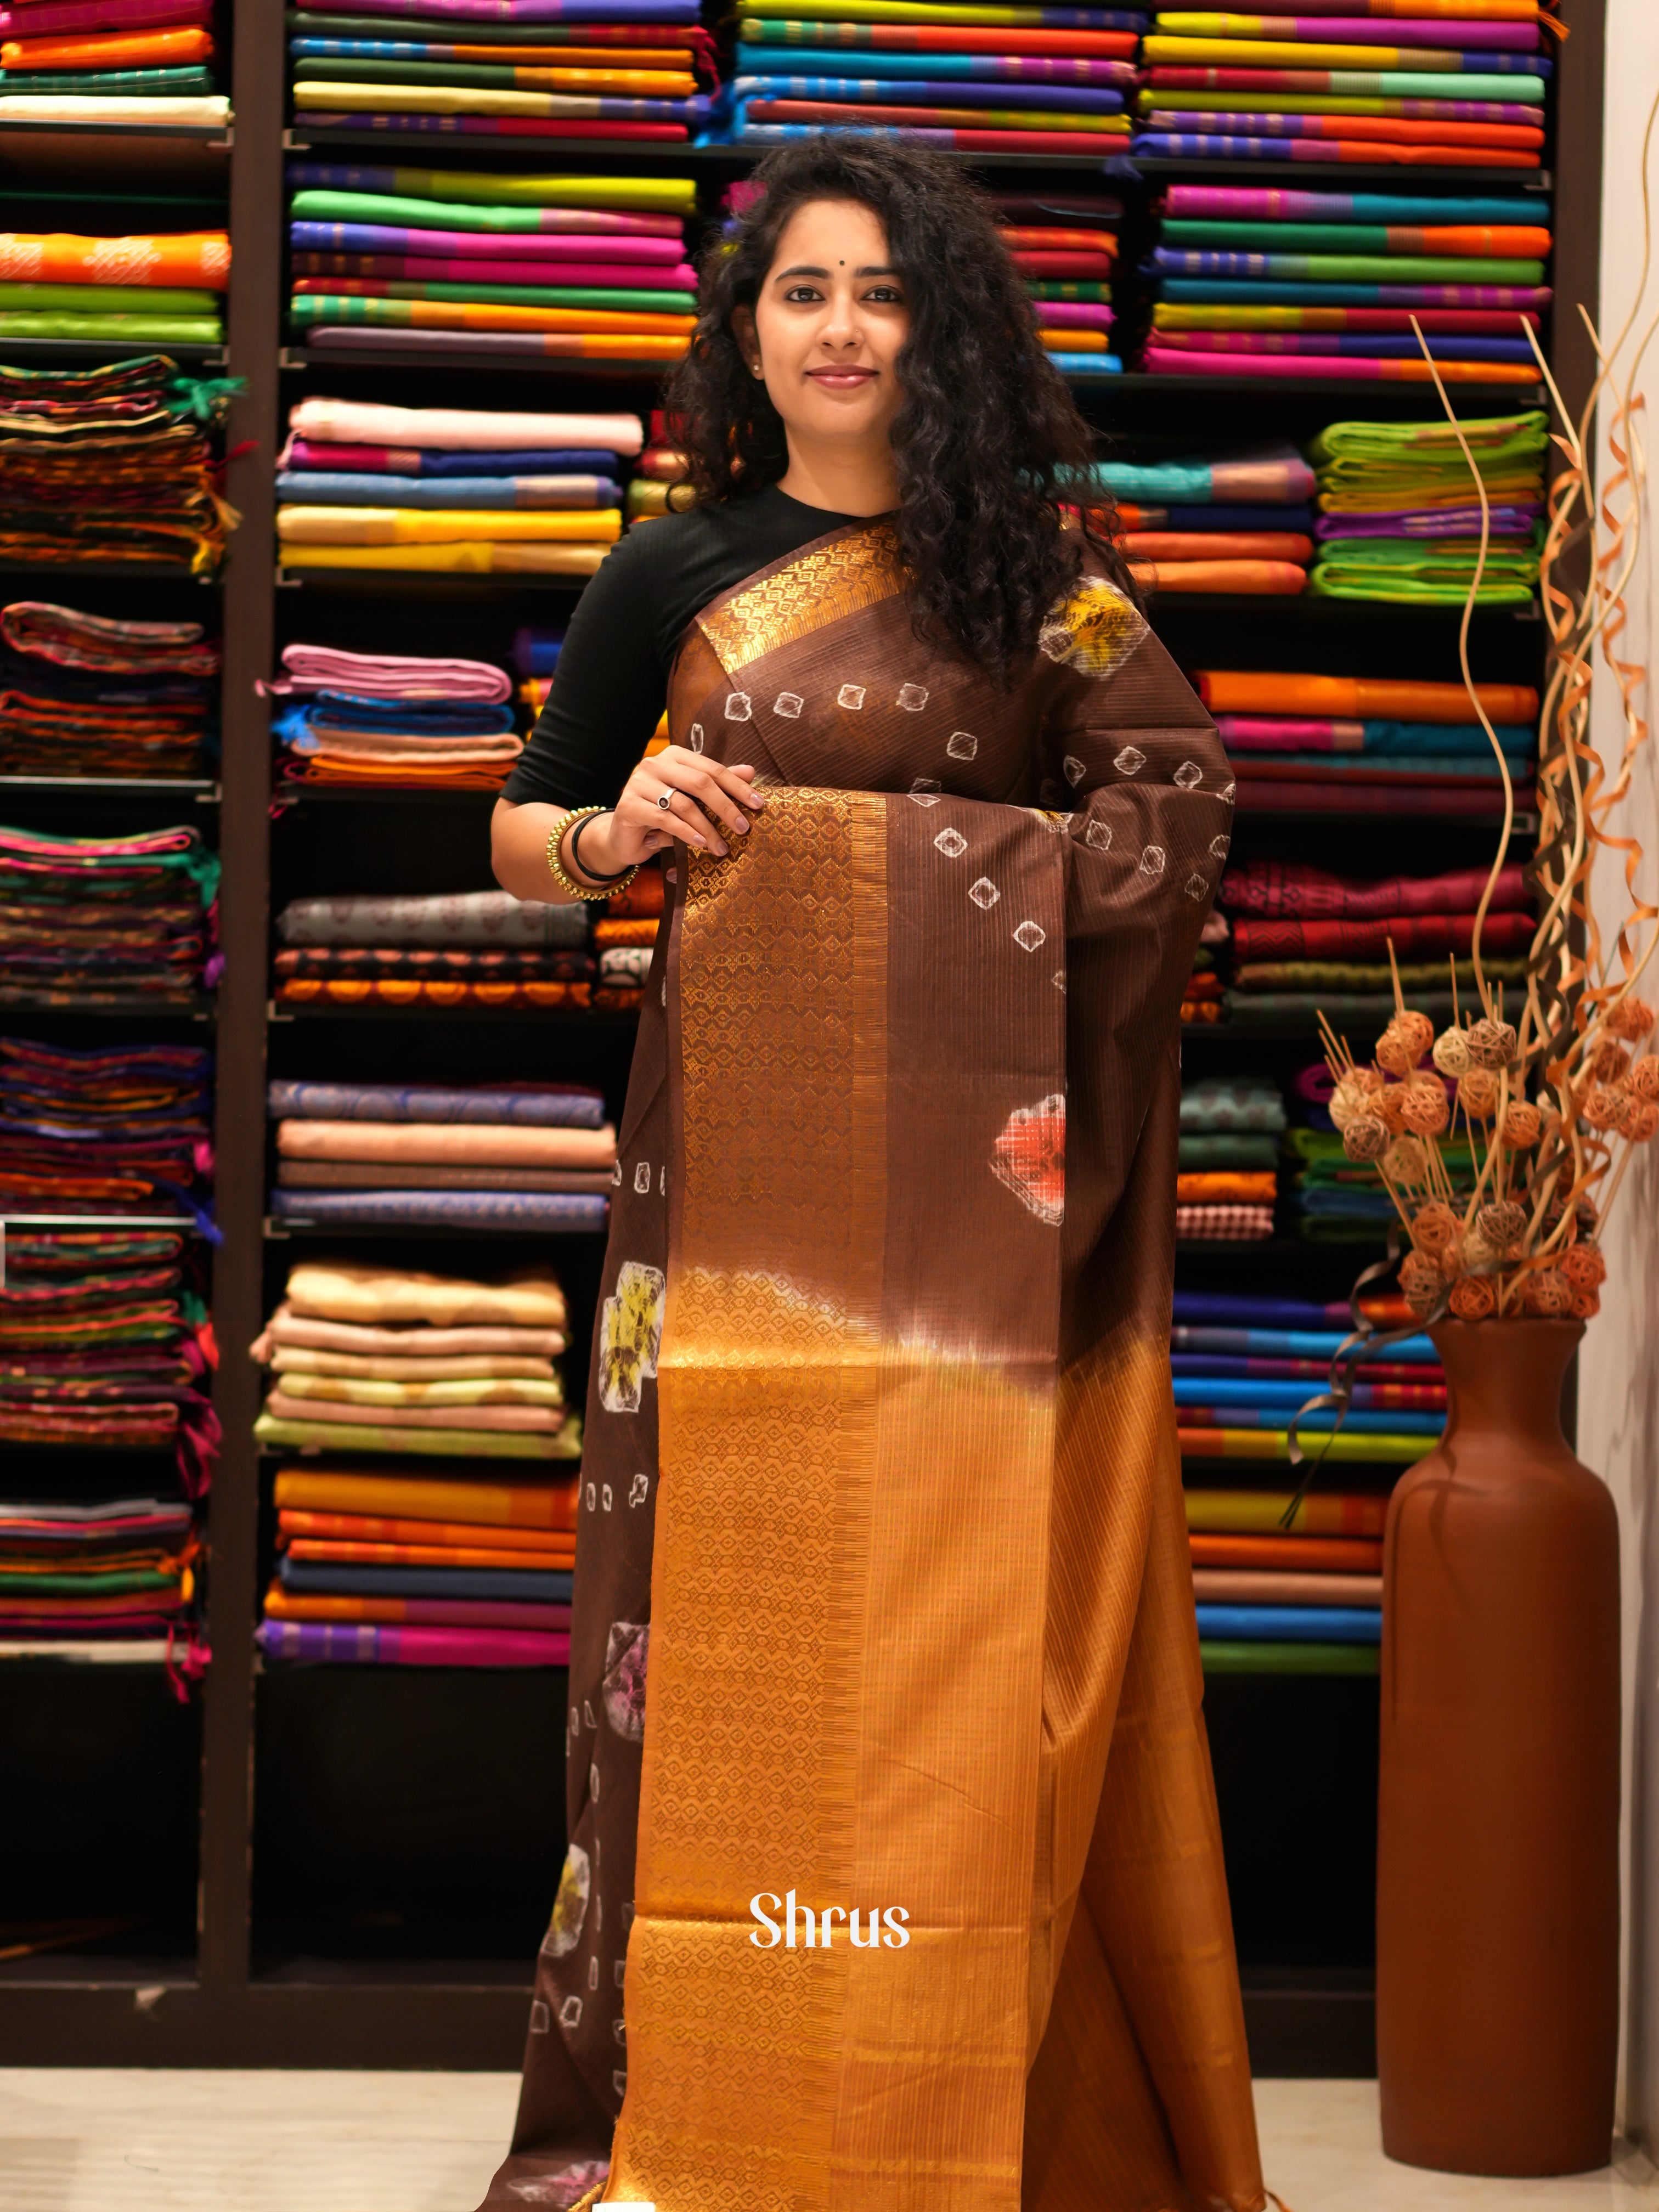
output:
<path id="1" fill-rule="evenodd" d="M 0 2070 L 0 2205 L 473 2212 L 515 2090 L 513 2075 Z M 1571 2181 L 1389 2166 L 1374 2081 L 1261 2081 L 1256 2110 L 1292 2212 L 1659 2212 L 1639 2154 Z"/>

